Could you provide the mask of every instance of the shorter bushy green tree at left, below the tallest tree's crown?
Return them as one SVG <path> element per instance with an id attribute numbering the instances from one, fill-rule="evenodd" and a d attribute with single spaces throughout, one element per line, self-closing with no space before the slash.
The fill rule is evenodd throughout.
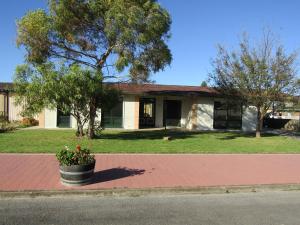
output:
<path id="1" fill-rule="evenodd" d="M 96 102 L 101 104 L 97 108 L 103 110 L 110 110 L 119 101 L 119 91 L 109 85 L 102 87 L 101 79 L 94 70 L 76 64 L 70 67 L 53 63 L 35 67 L 24 64 L 16 69 L 14 91 L 17 103 L 23 107 L 23 116 L 33 117 L 44 108 L 58 108 L 75 118 L 76 134 L 82 137 L 90 120 L 91 96 L 96 96 Z"/>

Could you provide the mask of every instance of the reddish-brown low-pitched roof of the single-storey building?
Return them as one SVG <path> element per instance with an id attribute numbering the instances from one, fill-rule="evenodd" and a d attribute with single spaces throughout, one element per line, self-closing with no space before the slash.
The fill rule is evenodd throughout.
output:
<path id="1" fill-rule="evenodd" d="M 196 95 L 215 96 L 218 92 L 214 88 L 184 85 L 162 85 L 162 84 L 132 84 L 132 83 L 108 83 L 122 91 L 124 94 L 135 95 Z M 0 91 L 13 89 L 13 83 L 1 83 Z"/>

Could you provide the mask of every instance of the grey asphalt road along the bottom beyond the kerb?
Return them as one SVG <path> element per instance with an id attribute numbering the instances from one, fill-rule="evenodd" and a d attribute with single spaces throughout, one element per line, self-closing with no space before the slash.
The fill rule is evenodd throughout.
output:
<path id="1" fill-rule="evenodd" d="M 299 225 L 300 192 L 1 199 L 0 224 Z"/>

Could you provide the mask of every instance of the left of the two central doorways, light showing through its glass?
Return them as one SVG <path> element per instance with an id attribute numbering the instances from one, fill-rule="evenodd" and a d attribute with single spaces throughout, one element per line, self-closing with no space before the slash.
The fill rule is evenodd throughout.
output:
<path id="1" fill-rule="evenodd" d="M 141 98 L 139 128 L 155 127 L 155 98 Z"/>

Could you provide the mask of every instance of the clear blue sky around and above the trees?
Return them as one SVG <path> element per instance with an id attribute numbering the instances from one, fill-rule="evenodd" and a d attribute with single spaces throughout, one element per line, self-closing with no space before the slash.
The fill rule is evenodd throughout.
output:
<path id="1" fill-rule="evenodd" d="M 4 3 L 5 2 L 5 3 Z M 200 85 L 212 71 L 217 44 L 234 49 L 243 32 L 259 40 L 272 30 L 288 52 L 300 49 L 299 0 L 159 0 L 172 17 L 168 45 L 173 61 L 152 75 L 159 84 Z M 47 0 L 9 0 L 0 3 L 0 82 L 10 82 L 24 62 L 18 49 L 16 20 L 28 10 L 46 8 Z"/>

